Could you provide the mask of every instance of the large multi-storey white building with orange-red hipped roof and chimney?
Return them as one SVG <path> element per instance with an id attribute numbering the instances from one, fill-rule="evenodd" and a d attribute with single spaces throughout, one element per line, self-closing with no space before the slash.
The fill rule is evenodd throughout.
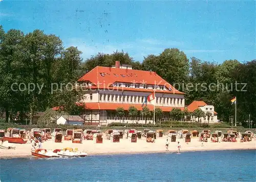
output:
<path id="1" fill-rule="evenodd" d="M 169 117 L 173 108 L 184 109 L 184 93 L 152 71 L 133 70 L 131 65 L 120 65 L 119 61 L 112 67 L 96 66 L 83 75 L 79 84 L 88 86 L 89 92 L 83 102 L 86 104 L 85 122 L 108 124 L 112 122 L 145 123 L 141 115 L 145 99 L 154 93 L 155 99 L 147 102 L 150 110 L 159 107 L 163 110 L 163 118 Z M 138 109 L 138 117 L 131 119 L 127 110 L 130 106 Z M 145 104 L 144 104 L 145 106 Z M 117 107 L 125 110 L 125 117 L 116 116 Z M 147 118 L 152 123 L 153 118 Z"/>

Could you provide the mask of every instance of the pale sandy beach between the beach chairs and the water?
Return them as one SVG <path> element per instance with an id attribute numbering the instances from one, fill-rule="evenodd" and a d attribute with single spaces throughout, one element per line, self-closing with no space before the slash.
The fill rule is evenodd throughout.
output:
<path id="1" fill-rule="evenodd" d="M 63 149 L 66 147 L 78 148 L 79 151 L 86 151 L 88 155 L 108 155 L 108 154 L 136 154 L 136 153 L 158 153 L 165 151 L 165 142 L 167 135 L 162 138 L 157 138 L 155 143 L 146 143 L 146 139 L 138 139 L 137 143 L 131 143 L 127 139 L 120 139 L 120 143 L 112 143 L 110 140 L 104 140 L 102 144 L 96 144 L 94 141 L 83 140 L 82 144 L 75 144 L 72 141 L 64 141 L 55 143 L 54 140 L 48 140 L 42 143 L 42 148 L 47 150 Z M 181 143 L 181 152 L 186 151 L 207 151 L 207 150 L 242 150 L 256 149 L 256 140 L 251 142 L 220 142 L 207 143 L 202 145 L 198 138 L 191 139 L 190 143 L 185 143 L 184 139 L 177 139 L 176 142 L 169 143 L 168 152 L 177 152 L 177 142 Z M 32 157 L 31 144 L 11 144 L 16 146 L 16 149 L 0 149 L 0 158 L 12 157 Z"/>

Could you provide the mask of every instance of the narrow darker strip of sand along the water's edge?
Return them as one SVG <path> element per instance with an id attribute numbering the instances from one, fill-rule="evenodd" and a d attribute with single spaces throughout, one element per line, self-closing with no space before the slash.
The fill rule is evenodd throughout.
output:
<path id="1" fill-rule="evenodd" d="M 10 149 L 11 150 L 11 149 Z M 224 149 L 214 149 L 214 148 L 200 148 L 200 149 L 185 149 L 181 150 L 180 153 L 184 152 L 204 152 L 204 151 L 226 151 L 226 150 L 256 150 L 256 147 L 249 147 L 249 148 L 224 148 Z M 176 153 L 177 150 L 169 150 L 169 151 L 142 151 L 142 152 L 95 152 L 95 153 L 88 153 L 88 156 L 104 156 L 104 155 L 135 155 L 135 154 L 154 154 L 154 153 Z M 0 156 L 0 160 L 9 160 L 9 159 L 14 159 L 14 158 L 38 158 L 33 155 L 5 155 L 5 156 Z"/>

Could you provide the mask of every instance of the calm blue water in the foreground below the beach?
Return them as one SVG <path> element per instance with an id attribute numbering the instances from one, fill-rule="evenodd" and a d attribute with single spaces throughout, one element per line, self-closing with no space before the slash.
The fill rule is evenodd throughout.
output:
<path id="1" fill-rule="evenodd" d="M 256 181 L 256 150 L 0 160 L 5 181 Z"/>

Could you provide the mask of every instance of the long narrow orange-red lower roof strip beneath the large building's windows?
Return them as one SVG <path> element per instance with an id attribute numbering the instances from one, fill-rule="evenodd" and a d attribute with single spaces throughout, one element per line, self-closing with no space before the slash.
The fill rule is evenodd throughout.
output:
<path id="1" fill-rule="evenodd" d="M 135 106 L 138 110 L 142 110 L 142 104 L 125 104 L 125 103 L 98 103 L 91 102 L 86 103 L 86 109 L 89 110 L 116 110 L 117 107 L 122 107 L 124 110 L 128 110 L 130 106 Z M 147 104 L 147 107 L 150 110 L 154 110 L 154 105 Z M 166 106 L 155 106 L 155 108 L 161 108 L 163 111 L 171 111 L 175 107 L 166 107 Z M 179 107 L 181 110 L 184 110 L 184 107 Z"/>

